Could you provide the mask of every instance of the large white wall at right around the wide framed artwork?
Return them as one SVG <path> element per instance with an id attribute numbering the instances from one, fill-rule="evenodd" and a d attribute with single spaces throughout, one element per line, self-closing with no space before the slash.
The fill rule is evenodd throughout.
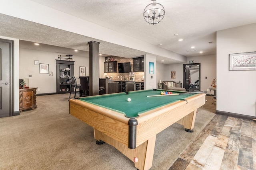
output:
<path id="1" fill-rule="evenodd" d="M 256 51 L 256 23 L 217 31 L 217 110 L 256 116 L 256 70 L 229 71 L 229 54 Z"/>

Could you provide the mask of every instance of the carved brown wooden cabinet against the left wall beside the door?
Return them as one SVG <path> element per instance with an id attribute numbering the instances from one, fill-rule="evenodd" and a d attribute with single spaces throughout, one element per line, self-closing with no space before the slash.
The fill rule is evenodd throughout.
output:
<path id="1" fill-rule="evenodd" d="M 37 107 L 36 89 L 37 87 L 20 89 L 20 112 Z"/>

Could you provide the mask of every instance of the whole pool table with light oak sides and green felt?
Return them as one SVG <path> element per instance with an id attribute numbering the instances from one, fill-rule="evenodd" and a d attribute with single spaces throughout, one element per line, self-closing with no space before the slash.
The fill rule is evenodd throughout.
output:
<path id="1" fill-rule="evenodd" d="M 196 111 L 205 104 L 204 93 L 170 91 L 178 95 L 160 95 L 160 91 L 70 99 L 70 114 L 94 127 L 96 140 L 118 149 L 139 170 L 148 170 L 152 166 L 156 134 L 173 123 L 193 129 Z"/>

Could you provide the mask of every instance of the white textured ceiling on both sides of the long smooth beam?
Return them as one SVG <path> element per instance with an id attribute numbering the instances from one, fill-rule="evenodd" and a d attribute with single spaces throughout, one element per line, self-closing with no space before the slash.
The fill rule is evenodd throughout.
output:
<path id="1" fill-rule="evenodd" d="M 216 54 L 216 31 L 256 23 L 256 0 L 157 0 L 164 6 L 166 13 L 164 19 L 155 25 L 147 23 L 143 18 L 144 8 L 152 3 L 150 0 L 32 1 L 156 46 L 162 44 L 159 47 L 186 57 Z M 85 36 L 4 14 L 0 14 L 0 21 L 0 35 L 66 47 L 71 51 L 88 51 L 88 45 L 85 47 L 84 42 L 97 41 L 90 37 L 85 41 Z M 174 36 L 176 33 L 178 35 Z M 184 40 L 178 41 L 180 38 Z M 208 43 L 210 41 L 214 43 Z M 144 54 L 143 51 L 100 42 L 100 53 L 106 55 L 130 58 Z M 195 51 L 188 52 L 191 46 L 195 46 Z M 162 59 L 157 57 L 157 61 Z M 166 63 L 174 61 L 169 59 Z"/>

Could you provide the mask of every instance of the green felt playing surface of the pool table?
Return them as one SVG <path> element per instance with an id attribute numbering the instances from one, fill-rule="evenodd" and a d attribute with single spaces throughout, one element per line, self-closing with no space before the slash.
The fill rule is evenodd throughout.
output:
<path id="1" fill-rule="evenodd" d="M 170 90 L 168 90 L 170 91 Z M 164 106 L 176 102 L 177 100 L 185 99 L 193 94 L 180 94 L 172 96 L 157 96 L 157 97 L 147 97 L 153 95 L 160 95 L 161 90 L 140 90 L 100 96 L 90 96 L 85 98 L 80 98 L 84 102 L 94 104 L 96 106 L 101 106 L 119 113 L 123 113 L 126 117 L 137 117 L 140 113 L 144 113 L 150 109 L 155 109 L 157 107 Z M 174 93 L 184 93 L 171 91 Z M 130 98 L 131 102 L 127 99 Z"/>

